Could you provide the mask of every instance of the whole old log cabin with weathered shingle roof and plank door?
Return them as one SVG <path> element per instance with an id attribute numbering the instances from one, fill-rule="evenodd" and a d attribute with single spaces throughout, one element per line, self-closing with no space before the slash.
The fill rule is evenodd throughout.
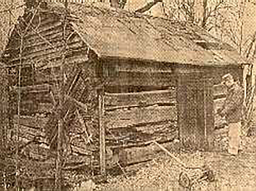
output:
<path id="1" fill-rule="evenodd" d="M 41 149 L 61 143 L 64 169 L 136 163 L 153 140 L 207 150 L 221 76 L 250 84 L 251 65 L 195 24 L 29 2 L 1 57 L 9 126 L 24 142 L 41 137 Z"/>

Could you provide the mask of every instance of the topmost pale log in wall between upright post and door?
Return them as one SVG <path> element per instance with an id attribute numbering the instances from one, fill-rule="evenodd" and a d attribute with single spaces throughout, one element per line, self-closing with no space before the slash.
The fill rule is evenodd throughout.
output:
<path id="1" fill-rule="evenodd" d="M 108 110 L 116 106 L 134 107 L 141 104 L 174 103 L 175 98 L 176 91 L 173 89 L 133 93 L 105 93 L 105 106 Z"/>

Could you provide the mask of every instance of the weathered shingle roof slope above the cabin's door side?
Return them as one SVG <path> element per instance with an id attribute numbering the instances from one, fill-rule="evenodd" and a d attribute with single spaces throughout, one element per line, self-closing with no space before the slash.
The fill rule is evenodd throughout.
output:
<path id="1" fill-rule="evenodd" d="M 131 13 L 124 10 L 71 4 L 72 21 L 99 57 L 154 60 L 177 64 L 243 64 L 228 44 L 195 24 Z"/>

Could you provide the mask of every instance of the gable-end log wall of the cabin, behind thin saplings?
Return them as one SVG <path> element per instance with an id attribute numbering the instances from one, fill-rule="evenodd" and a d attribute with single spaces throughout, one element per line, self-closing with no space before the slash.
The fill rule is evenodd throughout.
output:
<path id="1" fill-rule="evenodd" d="M 46 159 L 56 149 L 59 113 L 64 119 L 64 168 L 78 163 L 91 165 L 98 156 L 96 105 L 96 63 L 89 60 L 89 49 L 69 24 L 64 28 L 63 18 L 56 12 L 40 10 L 20 18 L 19 27 L 26 34 L 20 44 L 21 32 L 17 27 L 4 52 L 3 60 L 9 65 L 9 108 L 12 127 L 19 130 L 21 146 L 36 137 L 37 146 L 30 143 L 25 149 L 36 159 Z M 67 20 L 72 20 L 68 16 Z M 25 21 L 24 21 L 25 20 Z M 29 27 L 29 25 L 31 27 Z M 63 36 L 65 30 L 65 36 Z M 64 40 L 67 48 L 64 49 Z M 21 46 L 21 47 L 20 47 Z M 20 48 L 22 54 L 20 55 Z M 21 87 L 18 87 L 18 68 L 21 64 Z M 63 66 L 61 73 L 60 66 Z M 60 84 L 64 83 L 64 103 L 59 105 Z M 20 91 L 20 116 L 17 116 L 17 93 Z M 9 135 L 13 134 L 9 131 Z M 90 143 L 86 141 L 89 140 Z M 39 142 L 38 142 L 39 141 Z M 42 143 L 44 142 L 44 143 Z M 93 142 L 93 143 L 92 143 Z M 46 144 L 45 144 L 46 143 Z M 46 150 L 48 154 L 44 155 Z M 56 151 L 56 150 L 55 150 Z M 78 154 L 75 156 L 73 154 Z M 81 160 L 81 157 L 83 160 Z"/>

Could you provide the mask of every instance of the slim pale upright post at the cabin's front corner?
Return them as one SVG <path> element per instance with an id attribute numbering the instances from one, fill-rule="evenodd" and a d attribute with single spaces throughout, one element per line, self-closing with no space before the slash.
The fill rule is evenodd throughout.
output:
<path id="1" fill-rule="evenodd" d="M 99 127 L 100 127 L 100 173 L 106 175 L 106 146 L 105 146 L 105 127 L 104 127 L 104 91 L 98 92 L 99 103 Z"/>

